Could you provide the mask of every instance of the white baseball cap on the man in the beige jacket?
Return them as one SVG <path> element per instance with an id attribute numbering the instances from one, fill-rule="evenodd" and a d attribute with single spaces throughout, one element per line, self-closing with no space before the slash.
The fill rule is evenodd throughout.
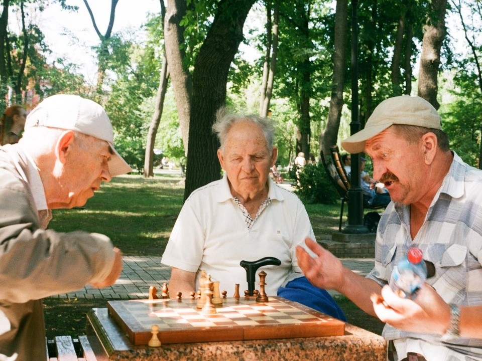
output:
<path id="1" fill-rule="evenodd" d="M 43 100 L 27 116 L 25 129 L 35 126 L 75 130 L 105 140 L 112 149 L 111 176 L 129 173 L 132 168 L 114 148 L 114 132 L 104 108 L 78 95 L 58 94 Z"/>

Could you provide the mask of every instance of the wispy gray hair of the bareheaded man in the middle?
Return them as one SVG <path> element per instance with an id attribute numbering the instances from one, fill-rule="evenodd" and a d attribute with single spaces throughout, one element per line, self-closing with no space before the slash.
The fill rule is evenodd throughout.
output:
<path id="1" fill-rule="evenodd" d="M 275 126 L 270 118 L 263 118 L 255 114 L 233 114 L 228 113 L 224 107 L 216 112 L 216 121 L 212 124 L 213 133 L 217 134 L 221 151 L 224 150 L 227 133 L 231 127 L 239 121 L 249 121 L 260 127 L 266 139 L 266 146 L 270 155 L 273 154 L 275 143 Z"/>

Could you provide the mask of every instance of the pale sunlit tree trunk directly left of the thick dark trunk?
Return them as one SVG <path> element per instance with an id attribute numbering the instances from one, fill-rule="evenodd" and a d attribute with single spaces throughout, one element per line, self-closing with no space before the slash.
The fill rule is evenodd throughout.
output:
<path id="1" fill-rule="evenodd" d="M 174 89 L 176 108 L 181 128 L 184 152 L 187 155 L 189 140 L 189 120 L 191 117 L 191 74 L 183 65 L 184 51 L 184 27 L 179 23 L 186 15 L 185 0 L 168 0 L 167 13 L 164 20 L 164 44 L 166 58 L 169 64 L 169 74 Z"/>

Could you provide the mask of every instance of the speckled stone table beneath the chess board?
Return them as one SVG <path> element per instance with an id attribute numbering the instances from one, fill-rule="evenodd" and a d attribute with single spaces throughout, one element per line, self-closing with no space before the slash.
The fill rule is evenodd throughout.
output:
<path id="1" fill-rule="evenodd" d="M 87 337 L 98 361 L 385 361 L 387 343 L 375 333 L 346 324 L 342 336 L 135 346 L 108 315 L 94 308 L 87 315 Z"/>

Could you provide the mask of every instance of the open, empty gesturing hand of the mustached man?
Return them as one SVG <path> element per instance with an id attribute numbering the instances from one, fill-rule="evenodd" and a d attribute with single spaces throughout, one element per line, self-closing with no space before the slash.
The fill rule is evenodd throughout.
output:
<path id="1" fill-rule="evenodd" d="M 298 265 L 306 278 L 315 286 L 339 290 L 343 284 L 343 264 L 333 254 L 310 238 L 305 243 L 316 257 L 311 257 L 303 247 L 296 247 Z"/>

